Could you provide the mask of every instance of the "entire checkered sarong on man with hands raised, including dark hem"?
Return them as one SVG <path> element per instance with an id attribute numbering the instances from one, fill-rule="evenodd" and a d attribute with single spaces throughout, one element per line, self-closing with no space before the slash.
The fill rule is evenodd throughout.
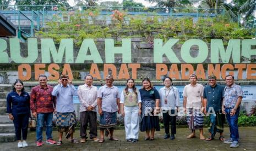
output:
<path id="1" fill-rule="evenodd" d="M 75 112 L 70 113 L 56 113 L 56 125 L 58 126 L 59 132 L 67 132 L 69 131 L 69 127 L 72 126 L 72 130 L 74 131 L 73 125 L 77 124 L 77 118 L 75 117 Z"/>

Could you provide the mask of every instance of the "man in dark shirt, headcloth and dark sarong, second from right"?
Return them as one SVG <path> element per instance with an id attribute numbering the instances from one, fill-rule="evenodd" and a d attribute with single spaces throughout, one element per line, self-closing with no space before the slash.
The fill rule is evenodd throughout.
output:
<path id="1" fill-rule="evenodd" d="M 223 136 L 224 130 L 224 121 L 225 115 L 221 112 L 222 100 L 224 97 L 224 86 L 216 84 L 216 76 L 209 75 L 209 84 L 204 89 L 204 106 L 206 106 L 206 110 L 204 113 L 208 114 L 208 130 L 209 137 L 206 138 L 206 141 L 214 140 L 214 136 L 216 132 L 220 133 L 219 140 L 225 141 Z"/>

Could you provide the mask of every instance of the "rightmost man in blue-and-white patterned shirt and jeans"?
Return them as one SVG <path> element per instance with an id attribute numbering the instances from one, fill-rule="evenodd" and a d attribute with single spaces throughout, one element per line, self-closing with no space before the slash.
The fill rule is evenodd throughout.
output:
<path id="1" fill-rule="evenodd" d="M 226 114 L 228 125 L 230 126 L 230 140 L 225 141 L 226 144 L 231 144 L 231 148 L 236 148 L 238 143 L 238 115 L 239 106 L 242 101 L 243 91 L 241 86 L 234 83 L 233 75 L 226 75 L 225 81 L 227 86 L 224 89 L 224 102 L 222 104 L 222 113 Z"/>

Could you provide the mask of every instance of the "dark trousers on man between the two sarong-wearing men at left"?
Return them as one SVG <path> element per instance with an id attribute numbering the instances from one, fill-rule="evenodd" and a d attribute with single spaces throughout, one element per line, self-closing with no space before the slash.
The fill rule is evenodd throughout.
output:
<path id="1" fill-rule="evenodd" d="M 80 136 L 87 138 L 86 130 L 89 123 L 90 138 L 97 137 L 97 114 L 93 111 L 80 112 Z"/>

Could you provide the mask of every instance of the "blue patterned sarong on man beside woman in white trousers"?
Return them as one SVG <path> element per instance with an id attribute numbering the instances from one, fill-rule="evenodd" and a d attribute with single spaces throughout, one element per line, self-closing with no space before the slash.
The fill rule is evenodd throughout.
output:
<path id="1" fill-rule="evenodd" d="M 116 127 L 117 123 L 117 113 L 113 112 L 105 112 L 102 111 L 102 115 L 100 115 L 100 128 L 102 129 L 110 129 Z"/>

